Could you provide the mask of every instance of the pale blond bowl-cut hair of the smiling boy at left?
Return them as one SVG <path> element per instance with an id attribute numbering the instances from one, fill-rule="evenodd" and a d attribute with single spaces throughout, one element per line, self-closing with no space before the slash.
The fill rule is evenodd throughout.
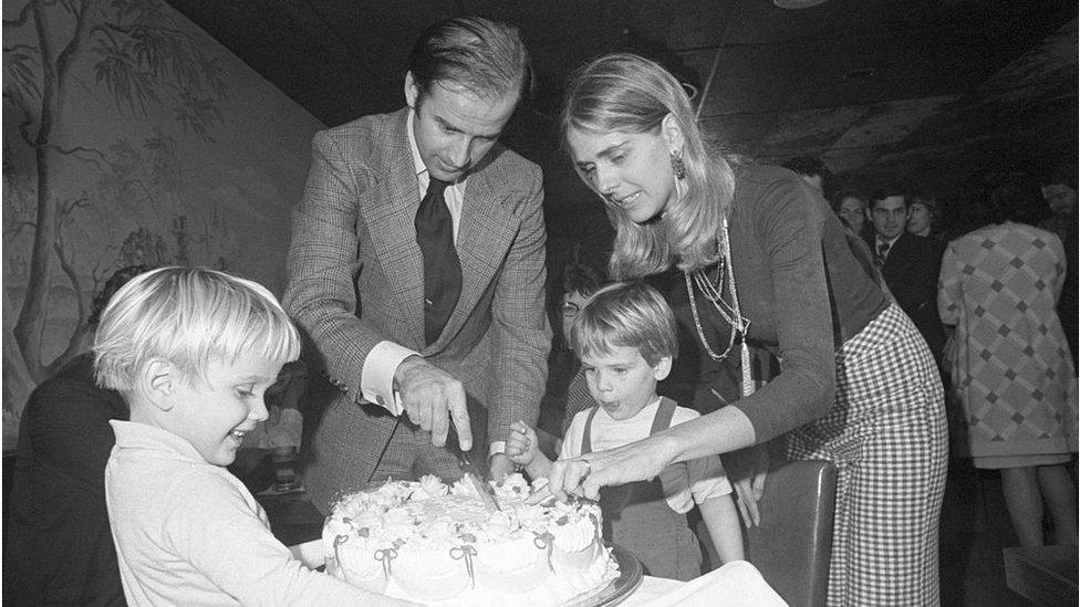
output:
<path id="1" fill-rule="evenodd" d="M 300 335 L 257 282 L 205 268 L 160 268 L 116 292 L 102 313 L 94 355 L 97 384 L 128 391 L 155 358 L 201 380 L 211 359 L 295 360 Z"/>

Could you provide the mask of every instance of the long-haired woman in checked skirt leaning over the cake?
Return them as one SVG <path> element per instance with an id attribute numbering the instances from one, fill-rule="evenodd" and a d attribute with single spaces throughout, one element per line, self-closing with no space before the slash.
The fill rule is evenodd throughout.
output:
<path id="1" fill-rule="evenodd" d="M 613 278 L 675 265 L 696 331 L 684 347 L 713 360 L 741 354 L 748 368 L 749 342 L 781 370 L 757 391 L 744 375 L 742 398 L 694 421 L 557 463 L 555 494 L 595 496 L 601 485 L 790 432 L 789 457 L 840 471 L 829 604 L 937 605 L 941 377 L 825 200 L 788 170 L 734 165 L 710 149 L 678 81 L 636 55 L 579 70 L 561 126 L 615 226 Z"/>

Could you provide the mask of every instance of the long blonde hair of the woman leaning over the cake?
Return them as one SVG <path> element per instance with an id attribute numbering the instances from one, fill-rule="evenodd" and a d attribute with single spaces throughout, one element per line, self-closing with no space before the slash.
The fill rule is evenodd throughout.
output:
<path id="1" fill-rule="evenodd" d="M 683 86 L 660 64 L 630 53 L 612 53 L 580 67 L 567 85 L 560 118 L 563 145 L 571 128 L 658 133 L 667 115 L 684 136 L 685 193 L 660 219 L 636 223 L 596 192 L 615 227 L 610 261 L 615 280 L 655 274 L 672 263 L 685 271 L 715 263 L 719 255 L 716 239 L 731 205 L 735 175 L 698 126 Z M 580 169 L 574 170 L 589 184 Z"/>

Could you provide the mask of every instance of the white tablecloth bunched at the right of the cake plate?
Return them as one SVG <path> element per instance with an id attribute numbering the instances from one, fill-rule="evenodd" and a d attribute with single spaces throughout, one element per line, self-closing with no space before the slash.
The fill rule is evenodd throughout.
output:
<path id="1" fill-rule="evenodd" d="M 757 567 L 735 561 L 690 582 L 645 576 L 620 607 L 787 607 Z"/>

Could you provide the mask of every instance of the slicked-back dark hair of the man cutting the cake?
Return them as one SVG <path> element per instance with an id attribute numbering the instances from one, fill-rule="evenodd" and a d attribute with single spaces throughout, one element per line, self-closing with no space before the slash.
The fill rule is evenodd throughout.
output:
<path id="1" fill-rule="evenodd" d="M 455 17 L 428 25 L 408 55 L 408 71 L 419 90 L 417 104 L 440 82 L 464 86 L 482 98 L 518 93 L 519 103 L 533 86 L 532 63 L 518 29 L 482 17 Z"/>

